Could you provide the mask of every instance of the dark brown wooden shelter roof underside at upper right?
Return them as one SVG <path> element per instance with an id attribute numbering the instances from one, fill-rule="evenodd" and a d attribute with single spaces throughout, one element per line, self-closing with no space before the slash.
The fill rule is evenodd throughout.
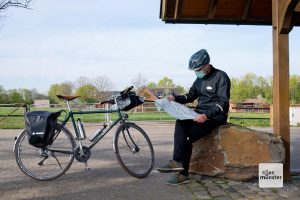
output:
<path id="1" fill-rule="evenodd" d="M 160 18 L 166 23 L 272 25 L 272 0 L 161 0 Z M 292 26 L 300 26 L 300 3 Z"/>

